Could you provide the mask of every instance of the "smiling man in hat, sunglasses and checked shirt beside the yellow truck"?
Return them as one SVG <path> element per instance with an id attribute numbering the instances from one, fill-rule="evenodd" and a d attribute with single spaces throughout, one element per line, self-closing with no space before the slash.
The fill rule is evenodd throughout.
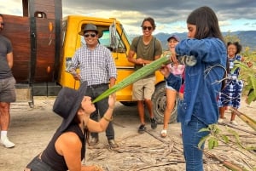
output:
<path id="1" fill-rule="evenodd" d="M 88 83 L 88 96 L 96 99 L 108 88 L 113 87 L 117 77 L 116 66 L 113 61 L 110 50 L 98 42 L 100 32 L 95 25 L 87 24 L 83 31 L 79 32 L 84 36 L 85 44 L 79 48 L 72 59 L 72 66 L 69 69 L 73 73 L 73 77 L 81 83 Z M 76 72 L 79 67 L 80 74 Z M 96 111 L 90 117 L 98 121 L 98 114 L 103 117 L 108 110 L 108 98 L 96 102 Z M 97 133 L 90 133 L 90 146 L 99 142 Z M 119 145 L 114 140 L 113 124 L 110 122 L 106 129 L 108 144 L 111 148 L 117 148 Z"/>

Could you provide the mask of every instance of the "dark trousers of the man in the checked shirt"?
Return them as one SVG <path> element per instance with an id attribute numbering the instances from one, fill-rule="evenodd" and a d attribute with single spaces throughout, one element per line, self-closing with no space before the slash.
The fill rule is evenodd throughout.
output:
<path id="1" fill-rule="evenodd" d="M 86 90 L 86 94 L 91 97 L 92 100 L 95 100 L 96 97 L 101 95 L 104 91 L 108 90 L 108 84 L 102 84 L 102 85 L 97 85 L 97 86 L 88 86 Z M 100 117 L 102 118 L 105 112 L 108 110 L 108 98 L 105 98 L 103 100 L 100 100 L 96 102 L 96 111 L 93 112 L 90 115 L 90 118 L 94 121 L 98 121 L 99 114 Z M 90 136 L 92 138 L 98 138 L 99 135 L 98 133 L 90 133 Z M 108 128 L 106 129 L 106 136 L 108 140 L 114 139 L 114 130 L 113 130 L 113 123 L 110 122 L 108 124 Z"/>

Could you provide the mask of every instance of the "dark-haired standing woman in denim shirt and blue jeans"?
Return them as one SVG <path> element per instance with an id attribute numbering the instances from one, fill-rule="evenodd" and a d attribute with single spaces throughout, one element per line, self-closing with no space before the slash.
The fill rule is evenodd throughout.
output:
<path id="1" fill-rule="evenodd" d="M 183 100 L 177 113 L 181 122 L 183 155 L 186 170 L 203 170 L 203 152 L 198 148 L 201 138 L 209 132 L 199 132 L 218 121 L 217 97 L 225 75 L 227 50 L 212 9 L 195 9 L 187 19 L 188 39 L 177 44 L 179 55 L 194 55 L 195 66 L 186 66 Z M 176 55 L 172 58 L 175 60 Z M 201 146 L 203 148 L 203 145 Z"/>

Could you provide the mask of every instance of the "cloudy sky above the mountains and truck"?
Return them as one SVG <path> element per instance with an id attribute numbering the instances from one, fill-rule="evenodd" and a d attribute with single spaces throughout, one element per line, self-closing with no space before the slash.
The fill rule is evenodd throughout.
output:
<path id="1" fill-rule="evenodd" d="M 0 13 L 22 15 L 22 0 L 0 0 Z M 221 31 L 255 31 L 255 0 L 62 0 L 63 17 L 82 14 L 116 18 L 128 34 L 141 34 L 146 17 L 154 18 L 154 34 L 187 32 L 188 15 L 201 6 L 217 14 Z"/>

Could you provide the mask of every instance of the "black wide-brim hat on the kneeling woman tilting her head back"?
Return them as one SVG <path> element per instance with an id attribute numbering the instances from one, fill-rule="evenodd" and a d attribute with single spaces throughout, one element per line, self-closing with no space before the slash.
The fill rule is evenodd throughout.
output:
<path id="1" fill-rule="evenodd" d="M 86 94 L 87 82 L 81 83 L 78 90 L 63 87 L 55 99 L 53 111 L 63 118 L 59 131 L 67 129 L 81 105 Z"/>

